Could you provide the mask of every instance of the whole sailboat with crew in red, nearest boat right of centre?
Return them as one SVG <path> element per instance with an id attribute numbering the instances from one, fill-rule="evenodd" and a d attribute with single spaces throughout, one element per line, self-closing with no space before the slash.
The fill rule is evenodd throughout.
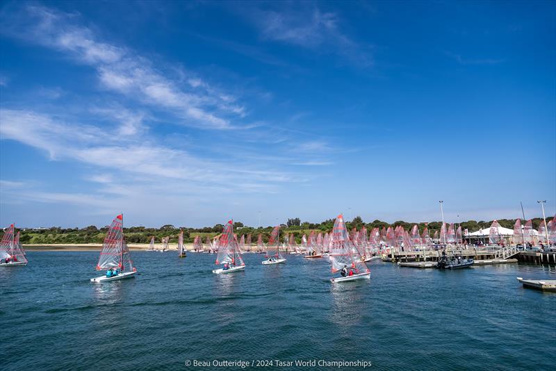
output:
<path id="1" fill-rule="evenodd" d="M 341 214 L 336 217 L 332 230 L 330 260 L 332 261 L 332 272 L 340 272 L 344 268 L 347 270 L 345 277 L 330 279 L 332 283 L 370 279 L 370 270 L 347 234 Z"/>

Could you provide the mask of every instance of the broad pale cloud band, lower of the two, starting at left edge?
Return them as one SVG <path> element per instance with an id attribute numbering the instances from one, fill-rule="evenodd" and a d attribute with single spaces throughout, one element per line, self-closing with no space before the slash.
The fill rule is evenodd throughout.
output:
<path id="1" fill-rule="evenodd" d="M 292 181 L 286 172 L 234 167 L 197 158 L 181 149 L 157 145 L 153 140 L 138 135 L 121 140 L 122 128 L 113 131 L 97 126 L 65 122 L 27 110 L 0 110 L 0 137 L 17 140 L 49 154 L 51 160 L 77 160 L 100 169 L 111 169 L 136 176 L 181 181 L 206 189 L 226 186 L 242 190 L 245 179 L 259 183 L 258 189 L 271 190 L 275 183 Z M 108 176 L 94 176 L 90 180 L 109 183 Z M 252 190 L 254 186 L 250 186 Z"/>

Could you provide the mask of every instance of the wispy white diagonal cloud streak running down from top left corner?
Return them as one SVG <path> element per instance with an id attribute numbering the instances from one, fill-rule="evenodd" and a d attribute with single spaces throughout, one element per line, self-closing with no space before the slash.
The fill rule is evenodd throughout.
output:
<path id="1" fill-rule="evenodd" d="M 77 24 L 79 15 L 26 5 L 1 13 L 2 33 L 56 49 L 94 68 L 104 89 L 128 99 L 167 110 L 181 124 L 204 129 L 233 129 L 233 117 L 245 117 L 236 97 L 221 92 L 197 76 L 174 79 L 153 60 L 135 51 L 103 42 L 90 28 Z M 185 72 L 181 74 L 187 75 Z M 185 80 L 186 83 L 180 83 Z"/>

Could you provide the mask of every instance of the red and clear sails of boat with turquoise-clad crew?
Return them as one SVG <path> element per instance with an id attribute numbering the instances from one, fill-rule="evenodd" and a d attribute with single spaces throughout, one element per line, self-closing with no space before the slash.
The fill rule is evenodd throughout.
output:
<path id="1" fill-rule="evenodd" d="M 131 261 L 124 237 L 123 220 L 124 216 L 120 214 L 112 221 L 102 244 L 97 270 L 108 270 L 111 268 L 120 269 L 122 272 L 136 270 L 133 267 L 133 261 Z"/>

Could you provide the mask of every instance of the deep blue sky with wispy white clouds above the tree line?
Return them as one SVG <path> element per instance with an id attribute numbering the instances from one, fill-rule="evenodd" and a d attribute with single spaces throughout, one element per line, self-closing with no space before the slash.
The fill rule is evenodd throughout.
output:
<path id="1" fill-rule="evenodd" d="M 553 1 L 3 1 L 0 22 L 1 225 L 556 211 Z"/>

